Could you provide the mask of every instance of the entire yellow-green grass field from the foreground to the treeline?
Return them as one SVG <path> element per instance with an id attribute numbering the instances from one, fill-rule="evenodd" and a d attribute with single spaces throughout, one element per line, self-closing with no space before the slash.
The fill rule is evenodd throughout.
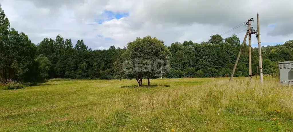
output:
<path id="1" fill-rule="evenodd" d="M 293 89 L 253 79 L 155 79 L 151 88 L 55 80 L 0 90 L 0 131 L 293 131 Z"/>

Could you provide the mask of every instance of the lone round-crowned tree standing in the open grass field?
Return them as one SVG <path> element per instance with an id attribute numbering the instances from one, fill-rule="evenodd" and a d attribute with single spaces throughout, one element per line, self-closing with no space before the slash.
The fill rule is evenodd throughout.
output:
<path id="1" fill-rule="evenodd" d="M 155 37 L 137 37 L 128 42 L 126 51 L 114 63 L 115 75 L 118 79 L 127 78 L 137 80 L 142 86 L 142 79 L 159 78 L 164 71 L 168 71 L 168 55 L 170 52 L 163 41 Z"/>

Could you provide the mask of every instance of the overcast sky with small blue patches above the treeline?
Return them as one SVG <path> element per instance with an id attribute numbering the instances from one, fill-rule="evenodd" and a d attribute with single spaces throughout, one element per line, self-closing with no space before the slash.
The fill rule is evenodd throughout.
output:
<path id="1" fill-rule="evenodd" d="M 292 0 L 0 0 L 11 27 L 35 44 L 58 34 L 92 49 L 124 47 L 151 35 L 172 42 L 207 41 L 260 14 L 262 45 L 293 40 Z M 244 25 L 223 35 L 229 37 Z M 244 32 L 238 34 L 243 39 Z M 254 44 L 257 41 L 254 39 Z"/>

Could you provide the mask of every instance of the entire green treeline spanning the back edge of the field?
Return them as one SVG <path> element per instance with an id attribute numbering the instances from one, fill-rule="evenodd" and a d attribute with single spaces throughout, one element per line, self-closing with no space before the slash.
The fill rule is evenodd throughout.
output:
<path id="1" fill-rule="evenodd" d="M 159 45 L 157 48 L 161 48 L 163 54 L 168 56 L 170 70 L 162 74 L 165 78 L 230 76 L 240 49 L 240 40 L 236 35 L 226 38 L 212 35 L 207 42 L 174 42 L 168 47 L 162 40 L 151 40 L 150 36 L 146 38 L 149 38 L 146 42 L 155 41 L 155 44 Z M 0 81 L 5 83 L 9 79 L 19 82 L 38 82 L 50 78 L 135 78 L 118 76 L 121 74 L 117 74 L 119 67 L 115 67 L 115 64 L 121 61 L 121 56 L 128 54 L 130 57 L 130 54 L 135 53 L 134 51 L 139 51 L 134 50 L 135 48 L 144 48 L 147 52 L 137 55 L 146 58 L 150 53 L 162 53 L 151 52 L 151 47 L 149 49 L 139 47 L 144 39 L 137 39 L 129 42 L 126 47 L 111 46 L 107 50 L 92 50 L 82 39 L 73 46 L 70 38 L 64 39 L 60 35 L 54 39 L 44 38 L 42 42 L 33 44 L 25 33 L 10 27 L 9 20 L 0 6 Z M 135 47 L 131 49 L 133 45 Z M 293 40 L 276 46 L 262 47 L 262 53 L 263 73 L 278 76 L 277 63 L 293 60 Z M 258 49 L 253 48 L 254 74 L 257 73 L 257 67 Z M 145 75 L 150 79 L 156 78 L 152 74 Z M 242 49 L 234 76 L 248 76 L 247 44 Z"/>

